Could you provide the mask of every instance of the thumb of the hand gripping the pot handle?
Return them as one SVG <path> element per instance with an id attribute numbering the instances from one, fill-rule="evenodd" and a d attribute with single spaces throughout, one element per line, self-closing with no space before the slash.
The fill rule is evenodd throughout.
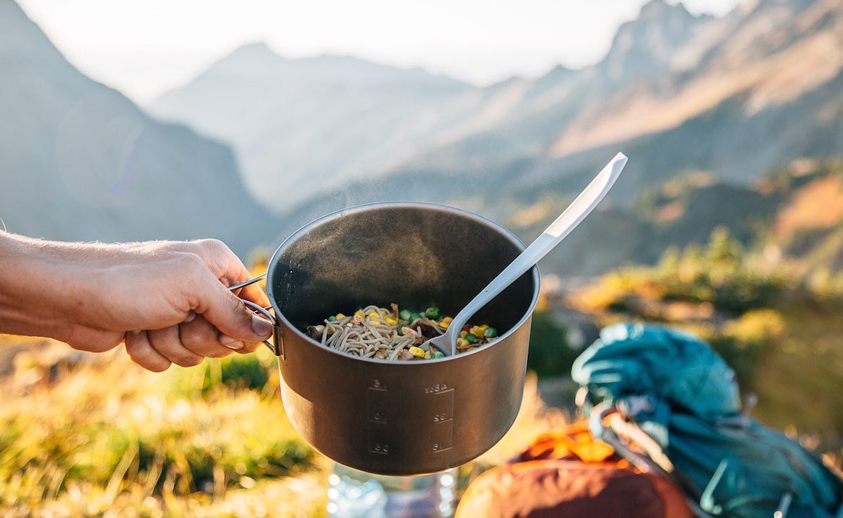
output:
<path id="1" fill-rule="evenodd" d="M 255 315 L 243 300 L 228 291 L 216 278 L 207 285 L 202 297 L 205 311 L 202 316 L 224 335 L 243 343 L 263 342 L 272 336 L 272 324 Z M 198 311 L 197 311 L 198 312 Z"/>

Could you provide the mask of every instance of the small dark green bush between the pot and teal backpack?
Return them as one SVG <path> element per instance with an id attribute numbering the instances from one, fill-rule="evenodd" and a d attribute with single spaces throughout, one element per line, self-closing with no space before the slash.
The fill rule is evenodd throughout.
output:
<path id="1" fill-rule="evenodd" d="M 539 376 L 568 375 L 576 358 L 577 352 L 567 343 L 565 326 L 546 311 L 534 312 L 527 368 Z"/>

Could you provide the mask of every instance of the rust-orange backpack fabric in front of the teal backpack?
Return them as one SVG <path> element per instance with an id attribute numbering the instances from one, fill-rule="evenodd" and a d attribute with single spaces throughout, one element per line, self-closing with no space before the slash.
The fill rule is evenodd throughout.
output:
<path id="1" fill-rule="evenodd" d="M 465 490 L 455 518 L 691 518 L 670 481 L 639 472 L 593 439 L 588 424 L 544 434 L 513 463 L 483 473 Z"/>

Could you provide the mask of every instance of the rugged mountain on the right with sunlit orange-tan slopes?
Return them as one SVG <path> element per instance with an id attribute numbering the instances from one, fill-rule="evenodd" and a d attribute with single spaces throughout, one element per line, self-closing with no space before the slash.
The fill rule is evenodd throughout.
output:
<path id="1" fill-rule="evenodd" d="M 687 170 L 749 183 L 800 156 L 843 151 L 839 2 L 765 0 L 723 19 L 677 9 L 647 4 L 603 62 L 556 82 L 556 102 L 528 105 L 520 118 L 425 149 L 396 170 L 481 174 L 521 164 L 513 188 L 566 191 L 622 149 L 631 160 L 618 201 Z M 674 40 L 658 36 L 672 34 L 671 24 L 685 29 Z"/>

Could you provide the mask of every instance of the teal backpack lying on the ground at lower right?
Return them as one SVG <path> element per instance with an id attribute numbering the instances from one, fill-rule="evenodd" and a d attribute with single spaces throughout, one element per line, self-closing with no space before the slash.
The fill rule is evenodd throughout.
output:
<path id="1" fill-rule="evenodd" d="M 733 370 L 700 339 L 663 326 L 609 326 L 572 376 L 593 434 L 636 466 L 673 478 L 698 515 L 843 516 L 840 478 L 740 413 Z M 634 426 L 607 427 L 617 417 L 610 414 Z"/>

